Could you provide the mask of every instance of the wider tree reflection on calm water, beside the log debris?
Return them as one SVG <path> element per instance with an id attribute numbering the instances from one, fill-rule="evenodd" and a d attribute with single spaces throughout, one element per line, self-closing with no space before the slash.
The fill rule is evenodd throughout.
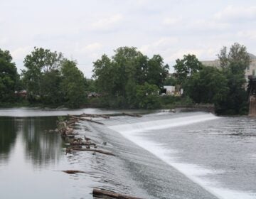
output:
<path id="1" fill-rule="evenodd" d="M 62 141 L 55 133 L 47 133 L 46 129 L 56 128 L 56 117 L 29 117 L 23 119 L 23 146 L 26 149 L 26 159 L 34 166 L 47 166 L 55 163 L 60 156 Z"/>

